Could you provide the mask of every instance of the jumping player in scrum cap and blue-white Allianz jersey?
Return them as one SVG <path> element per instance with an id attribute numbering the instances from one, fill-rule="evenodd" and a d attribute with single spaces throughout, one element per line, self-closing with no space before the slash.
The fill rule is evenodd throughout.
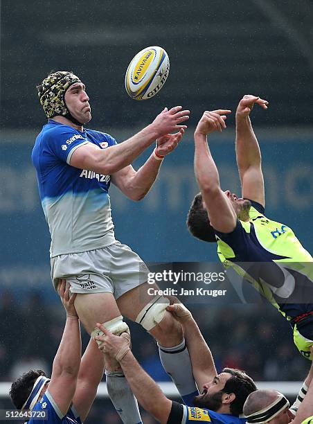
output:
<path id="1" fill-rule="evenodd" d="M 148 287 L 157 287 L 147 285 L 145 263 L 115 239 L 108 194 L 111 181 L 132 200 L 147 194 L 163 157 L 181 141 L 186 128 L 181 124 L 189 111 L 181 106 L 165 108 L 150 125 L 117 144 L 109 134 L 84 127 L 91 120 L 89 97 L 73 73 L 51 73 L 37 89 L 48 123 L 37 136 L 32 159 L 51 232 L 54 285 L 58 279 L 71 285 L 71 292 L 77 294 L 75 308 L 89 334 L 100 333 L 95 328 L 100 322 L 119 335 L 128 328 L 123 315 L 141 324 L 158 341 L 166 371 L 184 369 L 176 373 L 176 383 L 186 388 L 182 396 L 193 397 L 197 387 L 181 327 L 166 311 L 168 299 L 148 294 Z M 169 134 L 172 131 L 177 132 Z M 132 161 L 156 139 L 150 157 L 134 170 Z M 123 381 L 115 376 L 107 375 L 109 394 Z M 123 410 L 121 418 L 123 414 L 129 418 L 132 397 L 118 402 L 114 405 Z M 137 414 L 128 422 L 140 421 Z"/>

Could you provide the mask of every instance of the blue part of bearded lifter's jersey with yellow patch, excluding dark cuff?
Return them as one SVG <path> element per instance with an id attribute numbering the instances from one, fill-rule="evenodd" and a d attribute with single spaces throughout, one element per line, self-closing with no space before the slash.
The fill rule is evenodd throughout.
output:
<path id="1" fill-rule="evenodd" d="M 247 418 L 240 418 L 231 414 L 219 414 L 211 409 L 184 406 L 184 416 L 181 424 L 194 423 L 195 421 L 211 421 L 213 424 L 245 424 Z"/>

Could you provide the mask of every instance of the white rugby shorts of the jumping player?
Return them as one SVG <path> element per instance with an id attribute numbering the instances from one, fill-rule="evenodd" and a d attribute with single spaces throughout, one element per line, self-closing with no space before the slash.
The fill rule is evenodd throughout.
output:
<path id="1" fill-rule="evenodd" d="M 66 279 L 73 293 L 110 292 L 122 296 L 147 281 L 147 265 L 130 247 L 113 245 L 51 258 L 51 278 L 55 289 Z"/>

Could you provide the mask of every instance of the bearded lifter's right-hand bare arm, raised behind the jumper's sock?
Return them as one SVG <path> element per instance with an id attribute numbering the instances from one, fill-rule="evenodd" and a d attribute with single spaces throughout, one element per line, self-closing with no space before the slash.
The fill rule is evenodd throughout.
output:
<path id="1" fill-rule="evenodd" d="M 201 391 L 202 387 L 217 375 L 213 356 L 193 317 L 181 322 L 181 326 L 193 367 L 193 376 Z"/>

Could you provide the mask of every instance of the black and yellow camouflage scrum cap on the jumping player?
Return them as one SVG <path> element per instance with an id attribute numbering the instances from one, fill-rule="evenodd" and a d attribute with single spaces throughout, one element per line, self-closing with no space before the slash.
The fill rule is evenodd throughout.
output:
<path id="1" fill-rule="evenodd" d="M 37 87 L 38 97 L 47 118 L 69 114 L 69 109 L 64 102 L 64 94 L 75 82 L 81 82 L 78 76 L 69 71 L 57 71 L 47 76 Z"/>

